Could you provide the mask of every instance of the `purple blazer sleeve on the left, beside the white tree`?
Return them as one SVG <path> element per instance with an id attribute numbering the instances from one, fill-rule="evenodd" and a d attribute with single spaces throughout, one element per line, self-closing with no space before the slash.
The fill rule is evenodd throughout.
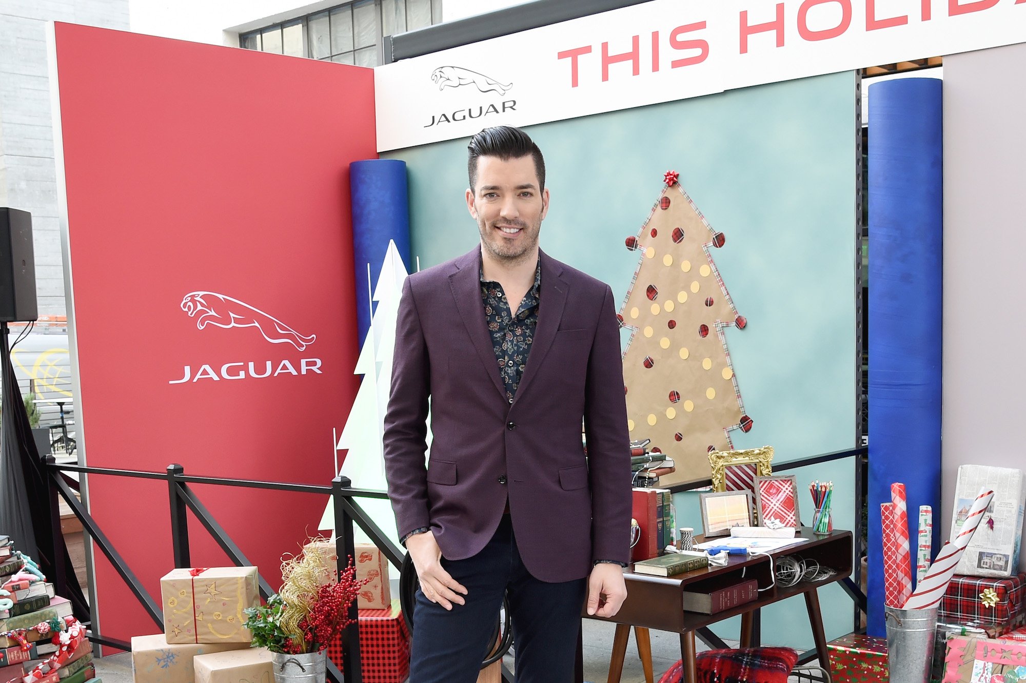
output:
<path id="1" fill-rule="evenodd" d="M 431 366 L 409 278 L 402 285 L 395 329 L 392 390 L 385 414 L 385 476 L 399 537 L 430 526 L 427 452 Z"/>

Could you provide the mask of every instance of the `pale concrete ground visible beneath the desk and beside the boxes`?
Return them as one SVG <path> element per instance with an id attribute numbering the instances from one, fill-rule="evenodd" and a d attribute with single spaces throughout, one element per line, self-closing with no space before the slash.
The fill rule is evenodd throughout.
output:
<path id="1" fill-rule="evenodd" d="M 584 679 L 592 683 L 605 683 L 609 671 L 609 653 L 613 650 L 613 635 L 615 627 L 605 621 L 584 619 Z M 680 658 L 680 639 L 676 634 L 661 631 L 650 632 L 652 662 L 655 680 Z M 737 643 L 729 643 L 737 645 Z M 706 649 L 698 642 L 699 649 Z M 624 660 L 624 672 L 621 683 L 643 683 L 644 672 L 638 658 L 637 645 L 634 642 L 633 631 L 627 645 L 627 657 Z M 507 655 L 506 666 L 513 671 L 513 657 Z M 104 683 L 131 683 L 131 658 L 128 653 L 95 659 L 96 677 Z"/>

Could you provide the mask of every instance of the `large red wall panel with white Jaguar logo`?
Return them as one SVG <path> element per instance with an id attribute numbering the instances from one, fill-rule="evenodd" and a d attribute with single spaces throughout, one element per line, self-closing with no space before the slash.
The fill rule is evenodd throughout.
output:
<path id="1" fill-rule="evenodd" d="M 68 24 L 52 47 L 87 464 L 327 484 L 357 388 L 348 165 L 377 156 L 371 70 Z M 159 601 L 166 484 L 88 489 Z M 275 587 L 325 501 L 195 489 Z M 194 566 L 227 562 L 190 531 Z M 102 632 L 156 633 L 96 558 Z"/>

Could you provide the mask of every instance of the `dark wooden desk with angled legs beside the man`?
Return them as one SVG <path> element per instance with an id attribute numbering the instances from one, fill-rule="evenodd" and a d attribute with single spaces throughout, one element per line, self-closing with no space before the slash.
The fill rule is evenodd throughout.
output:
<path id="1" fill-rule="evenodd" d="M 801 581 L 790 588 L 775 586 L 772 563 L 764 555 L 732 555 L 724 566 L 710 566 L 675 576 L 636 574 L 633 571 L 633 565 L 628 567 L 624 571 L 624 579 L 627 584 L 627 600 L 624 602 L 623 607 L 620 608 L 620 612 L 610 619 L 588 616 L 587 612 L 583 613 L 583 616 L 586 618 L 602 618 L 602 620 L 613 621 L 618 625 L 613 664 L 609 669 L 609 681 L 620 680 L 620 669 L 622 669 L 624 660 L 624 652 L 622 650 L 626 649 L 626 636 L 632 626 L 680 634 L 680 658 L 684 665 L 684 683 L 694 683 L 696 678 L 696 629 L 741 614 L 742 647 L 754 647 L 758 643 L 751 642 L 753 611 L 796 595 L 804 595 L 805 597 L 805 608 L 808 611 L 808 622 L 813 628 L 816 651 L 819 654 L 820 662 L 825 667 L 829 666 L 827 664 L 830 660 L 827 652 L 827 639 L 823 632 L 823 615 L 820 612 L 820 599 L 817 589 L 827 584 L 839 581 L 851 575 L 853 556 L 852 532 L 833 531 L 826 535 L 816 535 L 812 532 L 812 529 L 803 528 L 801 536 L 810 538 L 810 540 L 798 546 L 777 551 L 772 554 L 773 557 L 798 555 L 805 559 L 816 560 L 821 565 L 834 569 L 836 571 L 834 575 L 821 581 Z M 702 538 L 698 538 L 697 541 L 702 543 Z M 754 602 L 738 605 L 716 614 L 685 612 L 681 607 L 681 594 L 685 588 L 696 581 L 719 574 L 736 574 L 739 580 L 742 577 L 746 579 L 755 578 L 758 580 L 759 589 L 765 589 L 771 586 L 772 588 L 761 592 L 758 600 Z M 582 679 L 578 678 L 578 683 L 581 683 L 581 681 Z"/>

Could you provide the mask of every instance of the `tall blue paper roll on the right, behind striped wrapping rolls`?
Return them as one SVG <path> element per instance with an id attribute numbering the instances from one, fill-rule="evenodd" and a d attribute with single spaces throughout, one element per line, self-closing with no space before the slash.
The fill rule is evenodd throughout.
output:
<path id="1" fill-rule="evenodd" d="M 904 482 L 916 537 L 919 506 L 941 507 L 941 81 L 870 85 L 869 619 L 884 636 L 880 504 Z M 937 551 L 937 534 L 934 551 Z M 915 563 L 915 546 L 911 549 Z M 913 570 L 913 578 L 915 572 Z"/>

